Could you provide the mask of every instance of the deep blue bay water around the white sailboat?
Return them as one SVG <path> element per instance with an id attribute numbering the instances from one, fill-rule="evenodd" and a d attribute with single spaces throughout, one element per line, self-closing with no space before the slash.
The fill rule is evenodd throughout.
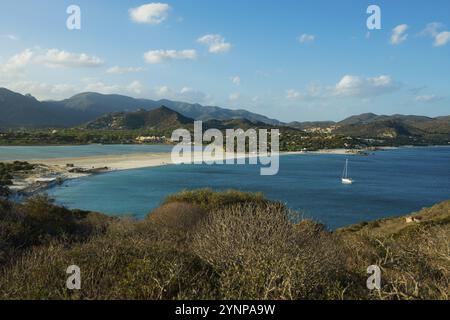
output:
<path id="1" fill-rule="evenodd" d="M 356 181 L 350 186 L 340 181 L 346 158 Z M 278 175 L 264 177 L 250 165 L 117 171 L 68 181 L 48 193 L 69 208 L 141 218 L 167 195 L 204 187 L 261 191 L 334 229 L 450 199 L 450 148 L 401 148 L 368 157 L 289 155 L 281 157 Z"/>

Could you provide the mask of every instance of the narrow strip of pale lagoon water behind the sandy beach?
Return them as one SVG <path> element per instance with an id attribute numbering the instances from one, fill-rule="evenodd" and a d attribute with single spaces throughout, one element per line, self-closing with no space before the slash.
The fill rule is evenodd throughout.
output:
<path id="1" fill-rule="evenodd" d="M 0 146 L 0 161 L 76 158 L 143 152 L 161 153 L 171 150 L 172 147 L 169 145 Z"/>

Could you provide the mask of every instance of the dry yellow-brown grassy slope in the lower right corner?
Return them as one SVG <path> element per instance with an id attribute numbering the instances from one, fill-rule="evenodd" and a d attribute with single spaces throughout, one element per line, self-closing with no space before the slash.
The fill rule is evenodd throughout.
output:
<path id="1" fill-rule="evenodd" d="M 407 224 L 402 217 L 338 232 L 354 253 L 349 268 L 382 268 L 382 288 L 369 298 L 449 299 L 449 209 L 447 201 L 414 214 L 422 218 L 420 223 Z"/>

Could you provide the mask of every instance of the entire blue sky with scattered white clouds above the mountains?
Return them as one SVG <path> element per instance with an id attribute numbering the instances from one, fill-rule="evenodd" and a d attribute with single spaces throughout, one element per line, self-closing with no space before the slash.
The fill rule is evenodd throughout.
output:
<path id="1" fill-rule="evenodd" d="M 68 30 L 66 9 L 81 9 Z M 381 9 L 369 31 L 367 7 Z M 450 114 L 450 2 L 2 1 L 0 86 L 245 108 L 283 121 Z"/>

